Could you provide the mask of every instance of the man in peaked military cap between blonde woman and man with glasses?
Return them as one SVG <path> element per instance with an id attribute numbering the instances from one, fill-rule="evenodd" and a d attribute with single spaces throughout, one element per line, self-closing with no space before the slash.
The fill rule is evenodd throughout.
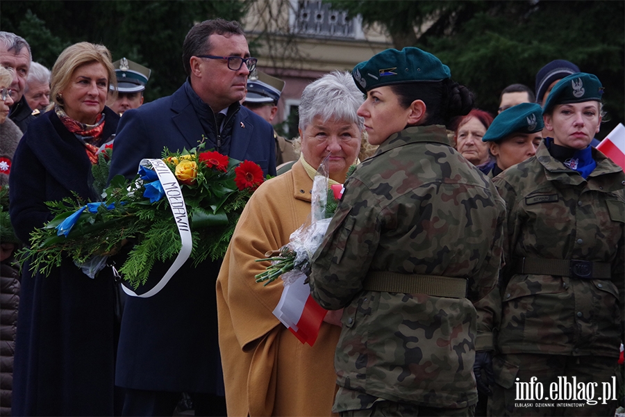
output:
<path id="1" fill-rule="evenodd" d="M 117 97 L 111 85 L 106 105 L 121 116 L 124 111 L 143 104 L 143 92 L 151 70 L 126 58 L 115 61 L 113 67 L 117 75 Z"/>

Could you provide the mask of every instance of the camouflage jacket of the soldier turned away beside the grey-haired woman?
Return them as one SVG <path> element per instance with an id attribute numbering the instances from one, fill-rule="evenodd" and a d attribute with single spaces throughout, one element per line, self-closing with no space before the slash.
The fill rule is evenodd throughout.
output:
<path id="1" fill-rule="evenodd" d="M 310 275 L 315 300 L 345 308 L 335 411 L 376 398 L 474 404 L 476 333 L 492 335 L 490 313 L 476 318 L 472 302 L 497 286 L 503 200 L 442 126 L 390 136 L 345 188 Z M 468 299 L 363 291 L 369 270 L 464 278 Z"/>

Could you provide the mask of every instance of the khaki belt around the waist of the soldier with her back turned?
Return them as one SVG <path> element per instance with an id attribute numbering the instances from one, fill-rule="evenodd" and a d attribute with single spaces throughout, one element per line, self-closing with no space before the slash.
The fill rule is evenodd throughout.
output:
<path id="1" fill-rule="evenodd" d="M 399 274 L 371 271 L 363 282 L 366 291 L 385 293 L 426 294 L 433 297 L 466 298 L 467 280 L 439 275 Z"/>

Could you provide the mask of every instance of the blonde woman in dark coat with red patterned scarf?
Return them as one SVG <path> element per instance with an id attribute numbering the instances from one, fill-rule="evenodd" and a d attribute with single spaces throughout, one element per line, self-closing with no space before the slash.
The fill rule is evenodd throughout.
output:
<path id="1" fill-rule="evenodd" d="M 20 140 L 10 175 L 10 216 L 28 242 L 52 220 L 47 201 L 98 201 L 91 167 L 119 116 L 105 106 L 115 82 L 110 52 L 80 42 L 52 70 L 53 109 Z M 110 269 L 93 279 L 71 259 L 49 275 L 22 268 L 13 372 L 14 416 L 112 416 L 117 320 Z"/>

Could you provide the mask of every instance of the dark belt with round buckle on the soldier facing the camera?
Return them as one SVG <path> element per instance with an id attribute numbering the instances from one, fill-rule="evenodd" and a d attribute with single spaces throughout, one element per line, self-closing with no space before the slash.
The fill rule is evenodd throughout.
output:
<path id="1" fill-rule="evenodd" d="M 581 259 L 517 258 L 515 274 L 558 275 L 578 279 L 610 279 L 612 267 L 608 262 L 590 262 Z"/>

